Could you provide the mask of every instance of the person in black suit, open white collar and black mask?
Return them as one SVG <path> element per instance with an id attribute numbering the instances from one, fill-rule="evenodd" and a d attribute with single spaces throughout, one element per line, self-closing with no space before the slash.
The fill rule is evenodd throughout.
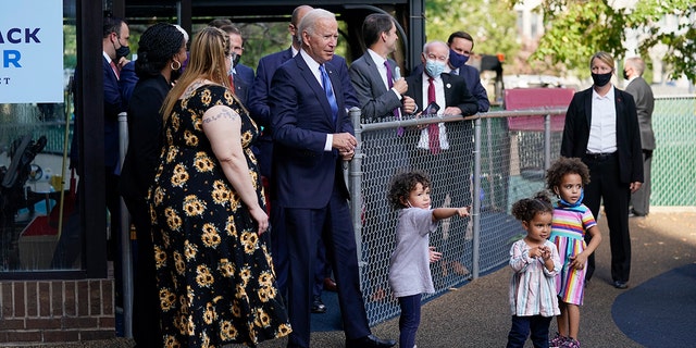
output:
<path id="1" fill-rule="evenodd" d="M 594 85 L 576 92 L 568 107 L 561 156 L 581 158 L 589 169 L 592 181 L 584 188 L 583 202 L 598 219 L 604 200 L 612 285 L 625 289 L 631 275 L 629 200 L 643 183 L 641 129 L 633 97 L 611 84 L 613 58 L 597 52 L 589 67 Z M 594 271 L 593 254 L 587 259 L 587 281 Z"/>

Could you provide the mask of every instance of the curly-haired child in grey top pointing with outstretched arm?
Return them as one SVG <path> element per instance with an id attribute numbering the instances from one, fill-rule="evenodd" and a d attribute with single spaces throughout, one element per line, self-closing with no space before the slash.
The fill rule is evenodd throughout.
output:
<path id="1" fill-rule="evenodd" d="M 435 293 L 430 262 L 442 254 L 430 247 L 437 222 L 455 215 L 468 216 L 468 208 L 431 208 L 431 179 L 424 172 L 396 174 L 388 191 L 389 203 L 399 210 L 396 249 L 389 259 L 389 285 L 399 301 L 399 347 L 415 347 L 421 322 L 421 294 Z"/>

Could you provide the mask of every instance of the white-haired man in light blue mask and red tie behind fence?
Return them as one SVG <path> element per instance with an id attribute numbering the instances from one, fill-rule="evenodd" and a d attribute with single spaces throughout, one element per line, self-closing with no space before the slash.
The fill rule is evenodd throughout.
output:
<path id="1" fill-rule="evenodd" d="M 438 114 L 469 116 L 478 111 L 476 98 L 467 88 L 463 77 L 446 73 L 449 62 L 449 47 L 443 41 L 431 41 L 423 46 L 421 61 L 424 71 L 407 77 L 406 96 L 415 100 L 417 110 L 427 110 L 435 102 L 439 107 Z M 422 116 L 423 112 L 421 112 Z M 420 130 L 420 138 L 411 148 L 411 165 L 421 169 L 445 167 L 451 163 L 464 169 L 458 181 L 456 191 L 435 190 L 433 207 L 443 207 L 449 196 L 450 207 L 471 204 L 470 177 L 473 161 L 473 125 L 472 121 L 450 123 L 432 123 Z M 451 182 L 451 175 L 434 172 L 434 183 Z M 461 183 L 461 184 L 459 184 Z M 448 238 L 439 245 L 443 251 L 443 275 L 465 275 L 467 269 L 461 263 L 461 243 L 463 243 L 464 221 L 451 223 Z M 442 235 L 442 234 L 440 234 Z M 451 273 L 450 273 L 451 271 Z"/>

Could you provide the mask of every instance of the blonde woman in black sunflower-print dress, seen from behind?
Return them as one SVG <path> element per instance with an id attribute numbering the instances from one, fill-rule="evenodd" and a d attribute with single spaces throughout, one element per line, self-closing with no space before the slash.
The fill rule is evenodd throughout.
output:
<path id="1" fill-rule="evenodd" d="M 258 128 L 228 87 L 228 37 L 202 29 L 164 100 L 149 191 L 163 347 L 222 347 L 286 336 L 290 325 L 264 238 Z M 153 135 L 154 136 L 154 135 Z"/>

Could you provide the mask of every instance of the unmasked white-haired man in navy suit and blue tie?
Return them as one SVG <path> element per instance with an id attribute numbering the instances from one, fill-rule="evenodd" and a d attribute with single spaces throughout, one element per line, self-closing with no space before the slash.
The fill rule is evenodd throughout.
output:
<path id="1" fill-rule="evenodd" d="M 364 310 L 358 256 L 343 162 L 358 145 L 341 84 L 347 70 L 335 66 L 338 23 L 315 9 L 299 24 L 302 48 L 277 69 L 271 83 L 274 192 L 288 236 L 288 347 L 310 346 L 310 301 L 316 244 L 323 238 L 338 286 L 346 346 L 391 347 L 371 334 Z M 347 76 L 346 76 L 347 78 Z M 349 88 L 349 90 L 344 90 Z"/>

